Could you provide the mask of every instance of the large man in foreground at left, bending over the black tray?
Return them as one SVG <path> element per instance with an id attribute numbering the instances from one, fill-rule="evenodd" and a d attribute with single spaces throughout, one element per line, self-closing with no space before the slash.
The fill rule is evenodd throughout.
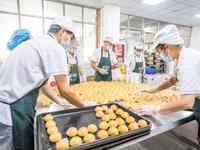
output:
<path id="1" fill-rule="evenodd" d="M 18 45 L 4 61 L 0 70 L 0 149 L 34 149 L 33 124 L 35 105 L 49 76 L 54 76 L 60 95 L 77 107 L 83 101 L 68 86 L 67 59 L 63 45 L 76 36 L 67 34 L 75 28 L 66 17 L 56 18 L 49 32 Z"/>

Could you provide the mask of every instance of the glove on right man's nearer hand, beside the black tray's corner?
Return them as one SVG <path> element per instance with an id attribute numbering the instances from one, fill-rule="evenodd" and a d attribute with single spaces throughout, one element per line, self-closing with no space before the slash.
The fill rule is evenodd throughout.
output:
<path id="1" fill-rule="evenodd" d="M 138 109 L 135 109 L 135 113 L 138 115 L 155 115 L 158 114 L 160 106 L 140 106 Z"/>

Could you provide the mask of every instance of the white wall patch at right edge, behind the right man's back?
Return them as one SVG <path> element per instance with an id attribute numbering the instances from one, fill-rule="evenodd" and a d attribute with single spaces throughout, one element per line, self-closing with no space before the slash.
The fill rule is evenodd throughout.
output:
<path id="1" fill-rule="evenodd" d="M 192 27 L 190 47 L 200 51 L 200 26 Z"/>

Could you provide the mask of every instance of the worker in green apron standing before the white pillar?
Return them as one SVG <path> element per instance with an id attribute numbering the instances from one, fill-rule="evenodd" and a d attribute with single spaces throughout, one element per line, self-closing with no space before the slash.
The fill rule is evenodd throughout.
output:
<path id="1" fill-rule="evenodd" d="M 119 64 L 112 51 L 113 37 L 107 36 L 103 40 L 101 48 L 96 49 L 91 56 L 91 67 L 95 70 L 94 80 L 112 81 L 111 64 L 118 67 Z"/>

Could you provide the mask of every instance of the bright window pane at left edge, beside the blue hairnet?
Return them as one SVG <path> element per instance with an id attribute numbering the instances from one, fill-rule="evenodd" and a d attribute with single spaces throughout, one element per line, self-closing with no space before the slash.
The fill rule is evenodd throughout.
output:
<path id="1" fill-rule="evenodd" d="M 5 59 L 10 53 L 6 44 L 13 31 L 18 29 L 18 16 L 0 13 L 0 18 L 0 59 Z"/>

